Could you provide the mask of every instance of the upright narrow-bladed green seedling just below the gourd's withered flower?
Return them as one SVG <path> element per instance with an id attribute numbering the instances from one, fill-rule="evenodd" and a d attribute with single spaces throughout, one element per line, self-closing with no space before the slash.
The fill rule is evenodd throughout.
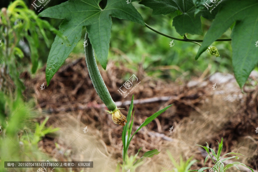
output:
<path id="1" fill-rule="evenodd" d="M 122 132 L 122 142 L 123 142 L 123 165 L 122 165 L 122 170 L 125 171 L 125 169 L 127 169 L 127 170 L 130 169 L 131 172 L 133 172 L 136 167 L 141 165 L 142 161 L 145 158 L 150 158 L 150 157 L 153 157 L 154 155 L 158 155 L 160 153 L 157 149 L 150 150 L 150 151 L 147 151 L 146 153 L 144 153 L 144 155 L 140 159 L 137 159 L 137 156 L 138 156 L 138 154 L 139 154 L 139 152 L 141 150 L 141 148 L 140 148 L 136 155 L 129 157 L 127 152 L 128 152 L 128 148 L 129 148 L 129 145 L 130 145 L 130 142 L 131 142 L 133 136 L 142 127 L 144 127 L 147 124 L 149 124 L 151 121 L 153 121 L 155 118 L 157 118 L 161 113 L 165 112 L 165 110 L 167 110 L 171 106 L 171 105 L 169 105 L 169 106 L 163 108 L 162 110 L 159 110 L 158 112 L 156 112 L 152 116 L 148 117 L 140 125 L 140 127 L 132 134 L 132 127 L 133 127 L 133 122 L 134 122 L 134 113 L 132 115 L 133 99 L 134 99 L 134 95 L 132 96 L 132 101 L 131 101 L 131 104 L 130 104 L 130 107 L 129 107 L 129 111 L 128 111 L 128 115 L 127 115 L 127 118 L 126 118 L 126 120 L 128 122 L 126 122 L 125 126 L 123 127 L 123 132 Z M 132 117 L 132 121 L 130 123 L 131 117 Z M 119 167 L 117 167 L 116 171 L 119 171 Z"/>

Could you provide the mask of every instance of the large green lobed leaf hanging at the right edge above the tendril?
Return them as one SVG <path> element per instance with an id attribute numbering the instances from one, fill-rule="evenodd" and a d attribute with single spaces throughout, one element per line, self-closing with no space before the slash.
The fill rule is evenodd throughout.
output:
<path id="1" fill-rule="evenodd" d="M 218 14 L 207 34 L 196 59 L 234 23 L 232 29 L 232 64 L 236 81 L 242 88 L 258 62 L 258 1 L 222 1 Z"/>

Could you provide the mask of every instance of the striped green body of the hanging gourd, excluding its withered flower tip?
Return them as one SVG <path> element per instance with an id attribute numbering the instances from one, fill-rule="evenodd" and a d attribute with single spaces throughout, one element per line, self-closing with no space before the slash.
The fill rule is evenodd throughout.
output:
<path id="1" fill-rule="evenodd" d="M 117 109 L 117 106 L 115 102 L 113 101 L 97 66 L 97 62 L 95 60 L 95 55 L 94 55 L 94 50 L 92 48 L 91 42 L 88 37 L 88 33 L 85 34 L 85 39 L 88 40 L 87 43 L 88 45 L 84 47 L 84 52 L 85 52 L 85 59 L 86 59 L 86 64 L 87 68 L 89 71 L 89 76 L 91 78 L 91 82 L 99 95 L 99 98 L 103 103 L 107 106 L 108 110 L 114 111 Z"/>

